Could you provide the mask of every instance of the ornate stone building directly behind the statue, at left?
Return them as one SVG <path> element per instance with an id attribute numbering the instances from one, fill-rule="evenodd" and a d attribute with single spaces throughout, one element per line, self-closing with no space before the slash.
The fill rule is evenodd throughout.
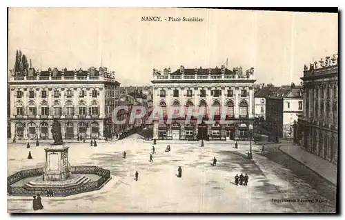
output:
<path id="1" fill-rule="evenodd" d="M 120 84 L 115 72 L 49 68 L 18 75 L 9 77 L 12 139 L 51 139 L 53 119 L 61 124 L 63 139 L 99 139 L 113 133 L 109 120 Z"/>

